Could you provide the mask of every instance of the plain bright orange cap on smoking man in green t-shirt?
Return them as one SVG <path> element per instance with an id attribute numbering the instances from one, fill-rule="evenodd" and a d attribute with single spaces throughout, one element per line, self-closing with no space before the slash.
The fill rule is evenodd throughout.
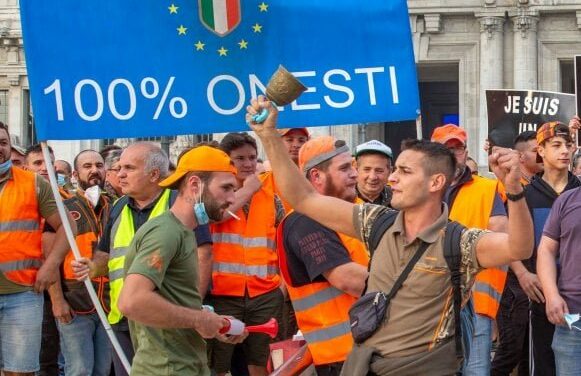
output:
<path id="1" fill-rule="evenodd" d="M 211 146 L 199 146 L 185 153 L 176 168 L 176 171 L 159 183 L 160 187 L 175 188 L 177 183 L 188 172 L 231 172 L 236 175 L 236 167 L 232 164 L 228 154 Z"/>

